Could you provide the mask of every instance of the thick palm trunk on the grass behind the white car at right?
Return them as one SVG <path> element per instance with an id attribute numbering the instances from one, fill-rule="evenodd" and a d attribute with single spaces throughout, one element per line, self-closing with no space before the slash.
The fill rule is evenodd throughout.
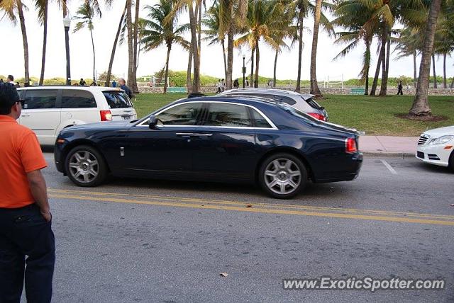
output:
<path id="1" fill-rule="evenodd" d="M 428 21 L 424 33 L 421 65 L 419 66 L 419 79 L 416 88 L 416 96 L 413 106 L 409 110 L 410 115 L 431 115 L 431 108 L 428 106 L 428 76 L 431 72 L 431 54 L 433 52 L 433 40 L 436 32 L 438 13 L 440 13 L 441 0 L 433 0 L 428 13 Z"/>

